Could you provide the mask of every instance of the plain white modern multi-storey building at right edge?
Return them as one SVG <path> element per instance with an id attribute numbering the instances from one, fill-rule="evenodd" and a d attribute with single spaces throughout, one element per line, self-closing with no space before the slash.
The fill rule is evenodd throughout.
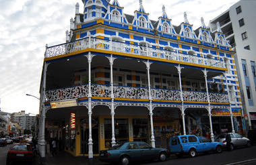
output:
<path id="1" fill-rule="evenodd" d="M 216 23 L 236 51 L 235 61 L 245 117 L 249 126 L 256 128 L 256 1 L 241 0 L 210 21 L 212 32 L 217 32 Z M 229 62 L 229 61 L 228 61 Z"/>

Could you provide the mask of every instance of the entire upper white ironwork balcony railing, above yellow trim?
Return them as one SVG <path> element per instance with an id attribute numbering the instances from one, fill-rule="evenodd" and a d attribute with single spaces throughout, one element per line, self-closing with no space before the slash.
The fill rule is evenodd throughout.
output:
<path id="1" fill-rule="evenodd" d="M 139 56 L 149 56 L 154 58 L 173 60 L 176 62 L 187 62 L 191 64 L 200 64 L 204 66 L 215 66 L 218 68 L 224 68 L 224 62 L 222 60 L 203 58 L 201 56 L 195 56 L 191 54 L 183 54 L 179 51 L 164 49 L 164 47 L 165 46 L 160 45 L 160 48 L 153 48 L 150 46 L 127 44 L 124 42 L 116 42 L 99 38 L 83 38 L 74 42 L 47 47 L 45 52 L 45 58 L 59 56 L 62 54 L 69 54 L 72 52 L 78 52 L 81 50 L 86 50 L 88 48 L 94 48 L 98 50 L 109 50 L 119 53 L 135 54 Z"/>

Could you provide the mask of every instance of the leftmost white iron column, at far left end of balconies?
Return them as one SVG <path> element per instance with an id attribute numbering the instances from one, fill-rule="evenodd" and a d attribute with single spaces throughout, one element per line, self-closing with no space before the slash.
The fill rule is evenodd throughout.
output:
<path id="1" fill-rule="evenodd" d="M 46 70 L 49 64 L 44 62 L 44 72 L 43 72 L 43 81 L 42 81 L 42 98 L 40 98 L 40 126 L 39 126 L 39 138 L 38 138 L 38 149 L 40 152 L 40 158 L 44 160 L 45 158 L 45 146 L 46 142 L 44 140 L 44 129 L 45 129 L 45 87 L 46 87 Z"/>

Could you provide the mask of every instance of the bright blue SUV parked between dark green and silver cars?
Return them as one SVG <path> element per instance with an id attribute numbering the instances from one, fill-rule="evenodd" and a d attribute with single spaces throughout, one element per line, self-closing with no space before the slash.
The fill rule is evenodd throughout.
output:
<path id="1" fill-rule="evenodd" d="M 222 143 L 211 142 L 205 137 L 197 137 L 195 135 L 178 135 L 170 138 L 170 153 L 182 157 L 188 154 L 195 157 L 198 152 L 216 151 L 222 152 Z"/>

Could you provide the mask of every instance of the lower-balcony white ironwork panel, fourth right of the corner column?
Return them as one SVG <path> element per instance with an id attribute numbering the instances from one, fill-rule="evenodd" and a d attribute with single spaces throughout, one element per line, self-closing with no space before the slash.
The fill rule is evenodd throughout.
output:
<path id="1" fill-rule="evenodd" d="M 196 91 L 183 91 L 183 100 L 207 102 L 207 93 Z"/>

